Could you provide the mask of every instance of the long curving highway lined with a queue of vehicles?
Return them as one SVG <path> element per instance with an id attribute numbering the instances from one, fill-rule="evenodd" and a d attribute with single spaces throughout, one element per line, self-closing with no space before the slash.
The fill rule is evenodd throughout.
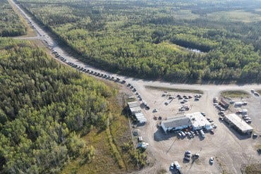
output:
<path id="1" fill-rule="evenodd" d="M 61 49 L 61 47 L 52 39 L 47 32 L 44 32 L 42 28 L 35 23 L 35 21 L 30 18 L 29 15 L 27 15 L 17 4 L 14 3 L 14 1 L 11 0 L 11 3 L 13 3 L 20 13 L 25 17 L 26 20 L 28 20 L 28 23 L 30 23 L 34 28 L 35 31 L 37 32 L 37 37 L 29 37 L 28 39 L 41 39 L 42 41 L 49 46 L 49 48 L 55 49 L 61 56 L 66 58 L 68 61 L 75 63 L 78 66 L 81 66 L 83 68 L 88 68 L 90 70 L 93 70 L 97 73 L 103 73 L 103 74 L 108 74 L 114 77 L 119 77 L 121 80 L 126 80 L 127 82 L 130 82 L 133 86 L 135 86 L 137 89 L 140 87 L 145 87 L 145 85 L 152 85 L 152 86 L 160 86 L 160 87 L 177 87 L 177 88 L 183 88 L 183 89 L 200 89 L 204 92 L 217 92 L 220 90 L 226 90 L 226 89 L 261 89 L 261 85 L 186 85 L 186 84 L 174 84 L 174 83 L 169 83 L 169 82 L 161 82 L 161 81 L 148 81 L 148 80 L 141 80 L 137 78 L 132 78 L 132 77 L 127 77 L 123 75 L 118 75 L 118 74 L 113 74 L 109 73 L 104 70 L 99 70 L 97 68 L 94 68 L 92 66 L 89 66 L 81 61 L 78 61 L 78 59 L 73 58 L 72 56 L 69 56 L 65 50 Z M 25 37 L 26 38 L 26 37 Z"/>

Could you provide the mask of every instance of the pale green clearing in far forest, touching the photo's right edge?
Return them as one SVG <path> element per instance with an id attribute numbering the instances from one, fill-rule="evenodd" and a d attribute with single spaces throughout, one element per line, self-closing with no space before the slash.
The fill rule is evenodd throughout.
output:
<path id="1" fill-rule="evenodd" d="M 210 13 L 207 18 L 212 20 L 226 20 L 226 21 L 241 21 L 244 23 L 251 23 L 261 21 L 261 16 L 250 13 L 247 11 L 219 11 L 215 13 Z"/>

